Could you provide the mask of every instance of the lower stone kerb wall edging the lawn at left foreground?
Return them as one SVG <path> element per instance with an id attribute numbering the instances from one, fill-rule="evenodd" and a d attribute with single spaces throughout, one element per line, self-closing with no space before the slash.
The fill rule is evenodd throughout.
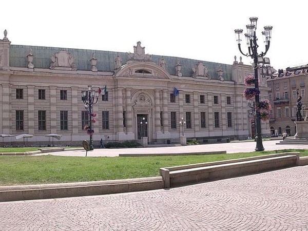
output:
<path id="1" fill-rule="evenodd" d="M 63 184 L 1 186 L 0 202 L 93 196 L 160 189 L 163 187 L 162 177 Z"/>

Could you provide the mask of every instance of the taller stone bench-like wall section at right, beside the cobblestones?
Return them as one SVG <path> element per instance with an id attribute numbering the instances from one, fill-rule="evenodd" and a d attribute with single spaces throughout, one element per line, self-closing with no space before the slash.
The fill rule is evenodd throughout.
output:
<path id="1" fill-rule="evenodd" d="M 161 168 L 165 188 L 299 165 L 299 152 Z"/>

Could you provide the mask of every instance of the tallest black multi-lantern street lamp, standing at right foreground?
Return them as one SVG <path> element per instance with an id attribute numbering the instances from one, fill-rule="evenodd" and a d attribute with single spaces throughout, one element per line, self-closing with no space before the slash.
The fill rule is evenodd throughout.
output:
<path id="1" fill-rule="evenodd" d="M 264 43 L 265 43 L 265 51 L 261 52 L 260 54 L 258 53 L 258 44 L 257 44 L 257 36 L 256 36 L 256 29 L 257 29 L 257 17 L 251 17 L 249 18 L 251 21 L 251 24 L 247 25 L 247 33 L 245 33 L 245 38 L 246 38 L 246 44 L 248 46 L 248 53 L 244 54 L 241 49 L 241 36 L 243 33 L 242 29 L 236 29 L 235 30 L 235 35 L 236 35 L 236 40 L 238 42 L 238 47 L 240 52 L 245 55 L 245 56 L 250 56 L 254 60 L 254 71 L 255 71 L 255 88 L 256 91 L 259 92 L 259 79 L 258 79 L 258 61 L 259 57 L 261 57 L 261 61 L 263 62 L 263 56 L 266 54 L 269 48 L 269 43 L 271 41 L 271 36 L 272 36 L 272 26 L 265 26 L 264 31 L 262 32 L 262 35 L 264 35 Z M 256 105 L 259 104 L 260 102 L 260 97 L 259 94 L 256 94 L 255 97 L 255 102 Z M 261 132 L 261 120 L 260 120 L 260 111 L 256 110 L 256 141 L 257 145 L 255 150 L 256 151 L 263 151 L 264 147 L 262 144 L 262 132 Z"/>

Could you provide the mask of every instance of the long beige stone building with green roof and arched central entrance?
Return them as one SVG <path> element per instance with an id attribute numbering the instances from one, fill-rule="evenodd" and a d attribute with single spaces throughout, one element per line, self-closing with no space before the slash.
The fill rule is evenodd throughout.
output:
<path id="1" fill-rule="evenodd" d="M 252 72 L 236 57 L 227 65 L 149 55 L 140 42 L 128 53 L 12 45 L 5 31 L 0 40 L 0 133 L 33 134 L 29 145 L 50 143 L 45 135 L 57 133 L 63 136 L 60 144 L 80 145 L 89 139 L 82 91 L 92 85 L 93 90 L 107 88 L 93 105 L 94 146 L 101 139 L 145 136 L 152 144 L 179 142 L 183 132 L 201 143 L 244 139 L 251 125 L 243 78 Z M 267 97 L 264 79 L 260 90 L 261 99 Z M 262 129 L 269 135 L 267 122 Z M 15 142 L 5 138 L 6 144 Z"/>

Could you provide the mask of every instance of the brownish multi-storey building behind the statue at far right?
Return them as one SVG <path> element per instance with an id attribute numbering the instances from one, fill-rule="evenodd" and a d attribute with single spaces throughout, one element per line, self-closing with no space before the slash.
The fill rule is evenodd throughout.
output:
<path id="1" fill-rule="evenodd" d="M 286 131 L 289 136 L 296 134 L 296 102 L 299 96 L 302 97 L 303 118 L 306 116 L 308 100 L 305 92 L 306 75 L 308 66 L 298 66 L 280 70 L 267 80 L 268 100 L 271 102 L 272 111 L 269 126 L 271 136 L 281 136 Z"/>

